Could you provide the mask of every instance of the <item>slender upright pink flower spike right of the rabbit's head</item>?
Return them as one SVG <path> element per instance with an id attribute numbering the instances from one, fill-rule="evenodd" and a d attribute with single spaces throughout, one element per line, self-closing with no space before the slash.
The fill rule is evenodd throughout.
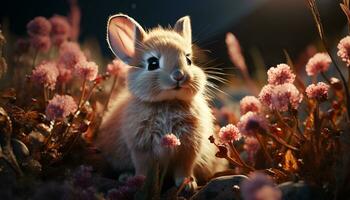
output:
<path id="1" fill-rule="evenodd" d="M 247 66 L 238 39 L 232 33 L 227 33 L 225 42 L 231 62 L 241 71 L 246 73 Z"/>

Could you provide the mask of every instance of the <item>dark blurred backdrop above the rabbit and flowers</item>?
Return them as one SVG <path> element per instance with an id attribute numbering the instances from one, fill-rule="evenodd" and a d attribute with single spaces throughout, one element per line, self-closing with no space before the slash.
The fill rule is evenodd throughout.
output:
<path id="1" fill-rule="evenodd" d="M 345 30 L 340 2 L 317 1 L 326 34 L 334 39 Z M 113 55 L 105 42 L 105 26 L 108 16 L 118 12 L 134 17 L 145 28 L 173 25 L 179 17 L 190 15 L 194 40 L 222 66 L 230 65 L 224 42 L 228 31 L 239 38 L 248 63 L 255 47 L 266 66 L 283 62 L 283 49 L 297 58 L 318 38 L 305 0 L 80 0 L 79 5 L 80 40 L 97 38 L 103 54 L 110 58 Z M 66 15 L 68 11 L 67 0 L 2 0 L 0 17 L 9 22 L 12 33 L 24 35 L 26 23 L 35 16 Z"/>

